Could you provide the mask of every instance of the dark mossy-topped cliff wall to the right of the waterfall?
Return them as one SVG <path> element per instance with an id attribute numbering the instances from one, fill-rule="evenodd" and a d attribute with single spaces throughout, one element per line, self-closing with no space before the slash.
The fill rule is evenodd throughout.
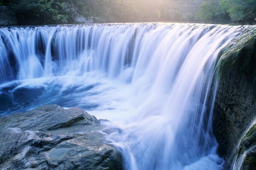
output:
<path id="1" fill-rule="evenodd" d="M 256 118 L 256 34 L 248 31 L 220 54 L 213 130 L 218 152 L 230 167 L 239 141 Z"/>

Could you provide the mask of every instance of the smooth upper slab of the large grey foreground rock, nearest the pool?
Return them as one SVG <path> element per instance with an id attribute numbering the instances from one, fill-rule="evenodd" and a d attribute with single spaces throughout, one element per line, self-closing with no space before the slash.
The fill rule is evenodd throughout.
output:
<path id="1" fill-rule="evenodd" d="M 85 125 L 100 125 L 96 117 L 80 108 L 63 109 L 58 105 L 45 105 L 26 113 L 2 116 L 0 122 L 0 130 L 18 127 L 22 130 L 49 131 L 77 125 L 84 132 Z"/>

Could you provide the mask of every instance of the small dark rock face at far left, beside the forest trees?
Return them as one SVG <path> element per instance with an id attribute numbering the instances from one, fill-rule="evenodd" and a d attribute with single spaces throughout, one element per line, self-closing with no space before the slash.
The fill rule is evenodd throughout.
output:
<path id="1" fill-rule="evenodd" d="M 0 26 L 17 26 L 14 12 L 6 6 L 0 6 Z"/>

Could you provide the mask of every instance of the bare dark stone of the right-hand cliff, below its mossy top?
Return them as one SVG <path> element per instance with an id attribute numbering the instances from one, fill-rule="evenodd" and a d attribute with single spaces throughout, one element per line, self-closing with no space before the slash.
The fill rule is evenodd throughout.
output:
<path id="1" fill-rule="evenodd" d="M 232 163 L 233 152 L 242 134 L 255 119 L 253 87 L 236 71 L 219 83 L 213 116 L 214 135 L 219 153 Z"/>

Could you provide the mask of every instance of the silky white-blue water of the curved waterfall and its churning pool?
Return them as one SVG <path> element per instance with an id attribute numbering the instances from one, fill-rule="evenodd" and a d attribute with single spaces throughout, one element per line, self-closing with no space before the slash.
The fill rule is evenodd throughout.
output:
<path id="1" fill-rule="evenodd" d="M 219 51 L 239 26 L 138 23 L 0 28 L 0 114 L 81 107 L 128 170 L 220 170 L 211 115 Z"/>

